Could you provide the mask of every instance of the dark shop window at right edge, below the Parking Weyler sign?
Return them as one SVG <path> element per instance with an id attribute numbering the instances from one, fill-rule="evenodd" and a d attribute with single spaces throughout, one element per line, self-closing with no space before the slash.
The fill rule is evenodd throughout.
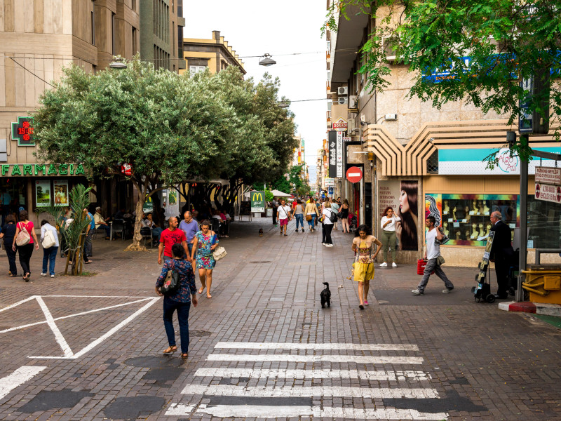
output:
<path id="1" fill-rule="evenodd" d="M 528 196 L 528 247 L 561 247 L 561 205 Z"/>

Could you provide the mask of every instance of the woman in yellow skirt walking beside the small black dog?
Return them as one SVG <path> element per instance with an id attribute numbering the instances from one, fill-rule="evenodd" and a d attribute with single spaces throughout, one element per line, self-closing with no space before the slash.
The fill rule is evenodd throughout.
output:
<path id="1" fill-rule="evenodd" d="M 377 246 L 374 252 L 374 244 Z M 353 263 L 354 279 L 358 282 L 358 308 L 368 305 L 366 296 L 370 288 L 370 279 L 374 279 L 374 260 L 381 250 L 381 242 L 370 232 L 370 227 L 360 225 L 353 239 L 353 251 L 356 259 Z"/>

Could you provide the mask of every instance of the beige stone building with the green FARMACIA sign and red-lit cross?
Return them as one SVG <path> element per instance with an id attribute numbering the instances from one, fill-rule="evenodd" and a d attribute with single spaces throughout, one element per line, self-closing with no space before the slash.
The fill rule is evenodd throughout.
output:
<path id="1" fill-rule="evenodd" d="M 139 43 L 135 0 L 4 1 L 0 13 L 0 192 L 2 212 L 67 205 L 69 189 L 87 183 L 79 163 L 36 162 L 32 115 L 39 96 L 71 63 L 86 72 L 113 55 L 132 58 Z M 95 196 L 92 197 L 95 201 Z"/>

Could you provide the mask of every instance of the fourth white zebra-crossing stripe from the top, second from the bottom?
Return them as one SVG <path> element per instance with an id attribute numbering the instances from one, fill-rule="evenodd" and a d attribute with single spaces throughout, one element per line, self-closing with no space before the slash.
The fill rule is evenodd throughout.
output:
<path id="1" fill-rule="evenodd" d="M 337 387 L 337 386 L 311 386 L 311 387 L 244 387 L 232 385 L 187 385 L 181 392 L 182 394 L 202 394 L 218 396 L 252 396 L 252 397 L 306 397 L 306 396 L 348 396 L 352 398 L 372 398 L 372 399 L 438 399 L 438 392 L 435 389 L 411 388 L 402 389 L 399 387 L 377 387 L 370 389 L 367 387 Z"/>

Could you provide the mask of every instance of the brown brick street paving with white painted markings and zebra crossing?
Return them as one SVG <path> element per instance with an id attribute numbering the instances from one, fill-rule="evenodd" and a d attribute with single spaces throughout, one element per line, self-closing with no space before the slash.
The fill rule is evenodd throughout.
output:
<path id="1" fill-rule="evenodd" d="M 156 248 L 95 240 L 95 275 L 54 279 L 35 251 L 32 282 L 0 279 L 0 420 L 561 420 L 560 330 L 475 303 L 467 268 L 419 297 L 415 267 L 377 269 L 361 311 L 333 239 L 235 222 L 187 361 L 161 354 Z"/>

